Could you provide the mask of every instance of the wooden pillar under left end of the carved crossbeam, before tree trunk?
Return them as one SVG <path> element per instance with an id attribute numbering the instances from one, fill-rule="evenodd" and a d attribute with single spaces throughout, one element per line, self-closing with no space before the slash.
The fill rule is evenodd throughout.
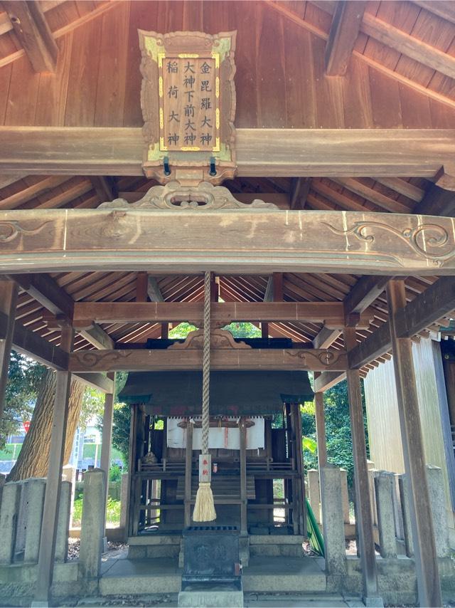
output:
<path id="1" fill-rule="evenodd" d="M 71 352 L 73 340 L 73 327 L 63 327 L 60 348 L 65 350 L 65 352 Z M 66 423 L 68 419 L 68 401 L 70 398 L 70 372 L 55 373 L 57 374 L 57 383 L 55 386 L 48 477 L 45 487 L 43 523 L 41 525 L 40 551 L 38 555 L 35 590 L 36 602 L 48 602 L 50 585 L 52 585 L 58 509 L 60 507 L 60 490 L 62 486 L 63 455 L 65 452 Z"/>

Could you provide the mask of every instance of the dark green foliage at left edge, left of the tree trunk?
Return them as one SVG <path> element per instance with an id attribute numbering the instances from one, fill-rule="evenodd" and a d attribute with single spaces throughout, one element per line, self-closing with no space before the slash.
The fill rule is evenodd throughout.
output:
<path id="1" fill-rule="evenodd" d="M 21 430 L 23 421 L 31 420 L 36 396 L 45 367 L 12 350 L 6 384 L 4 416 L 0 422 L 0 449 L 6 438 Z"/>

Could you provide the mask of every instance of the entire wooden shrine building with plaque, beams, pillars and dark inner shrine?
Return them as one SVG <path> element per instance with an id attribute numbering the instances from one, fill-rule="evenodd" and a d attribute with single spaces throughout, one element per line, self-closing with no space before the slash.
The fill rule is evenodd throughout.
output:
<path id="1" fill-rule="evenodd" d="M 314 399 L 324 589 L 397 602 L 387 595 L 395 567 L 414 577 L 411 601 L 453 601 L 412 345 L 451 327 L 454 217 L 451 0 L 1 0 L 0 413 L 11 349 L 57 373 L 31 596 L 47 602 L 63 571 L 76 594 L 104 588 L 98 554 L 90 567 L 82 557 L 54 567 L 61 468 L 71 376 L 107 394 L 106 471 L 123 371 L 131 556 L 141 539 L 180 543 L 194 524 L 204 454 L 215 524 L 240 533 L 245 580 L 258 528 L 286 529 L 300 551 L 299 405 Z M 171 340 L 181 322 L 198 330 Z M 261 337 L 234 339 L 225 327 L 235 322 Z M 373 527 L 360 388 L 381 365 L 394 367 L 412 529 L 413 554 L 395 561 L 375 555 L 384 536 Z M 333 533 L 341 503 L 323 412 L 323 392 L 345 378 L 352 560 Z"/>

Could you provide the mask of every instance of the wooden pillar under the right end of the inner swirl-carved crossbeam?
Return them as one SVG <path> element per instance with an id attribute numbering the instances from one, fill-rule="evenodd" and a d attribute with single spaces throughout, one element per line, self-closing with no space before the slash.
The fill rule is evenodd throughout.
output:
<path id="1" fill-rule="evenodd" d="M 352 350 L 357 341 L 355 328 L 345 327 L 346 349 Z M 365 446 L 365 426 L 363 424 L 362 394 L 360 392 L 360 372 L 358 369 L 346 371 L 348 380 L 350 429 L 353 437 L 353 460 L 355 479 L 355 525 L 358 536 L 358 550 L 362 566 L 363 594 L 365 598 L 378 597 L 378 573 L 376 570 L 375 541 L 371 517 L 370 486 L 368 484 L 367 451 Z"/>

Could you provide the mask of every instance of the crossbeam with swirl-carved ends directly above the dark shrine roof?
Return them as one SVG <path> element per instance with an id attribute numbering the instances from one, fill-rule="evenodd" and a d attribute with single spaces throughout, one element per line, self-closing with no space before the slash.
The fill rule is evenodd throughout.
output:
<path id="1" fill-rule="evenodd" d="M 211 369 L 346 369 L 343 350 L 313 349 L 216 349 L 210 355 Z M 202 350 L 77 350 L 70 355 L 72 372 L 146 372 L 172 369 L 202 369 Z"/>

